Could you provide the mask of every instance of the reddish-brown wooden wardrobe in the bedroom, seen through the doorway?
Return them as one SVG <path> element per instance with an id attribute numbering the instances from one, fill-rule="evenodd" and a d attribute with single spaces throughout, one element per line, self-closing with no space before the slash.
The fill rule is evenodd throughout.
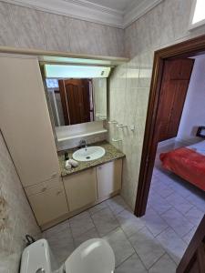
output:
<path id="1" fill-rule="evenodd" d="M 178 134 L 193 64 L 192 59 L 165 61 L 159 101 L 159 141 Z"/>

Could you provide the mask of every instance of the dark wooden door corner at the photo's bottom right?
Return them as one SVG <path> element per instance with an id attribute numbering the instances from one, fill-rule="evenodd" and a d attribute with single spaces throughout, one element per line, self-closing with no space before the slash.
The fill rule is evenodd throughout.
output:
<path id="1" fill-rule="evenodd" d="M 205 273 L 205 216 L 179 263 L 177 273 Z"/>

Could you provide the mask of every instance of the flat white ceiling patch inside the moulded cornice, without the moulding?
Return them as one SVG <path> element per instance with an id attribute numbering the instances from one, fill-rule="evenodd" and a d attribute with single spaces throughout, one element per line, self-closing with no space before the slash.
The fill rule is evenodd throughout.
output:
<path id="1" fill-rule="evenodd" d="M 87 0 L 88 2 L 95 3 L 97 5 L 102 5 L 108 8 L 112 8 L 121 12 L 128 9 L 128 6 L 140 0 Z"/>

